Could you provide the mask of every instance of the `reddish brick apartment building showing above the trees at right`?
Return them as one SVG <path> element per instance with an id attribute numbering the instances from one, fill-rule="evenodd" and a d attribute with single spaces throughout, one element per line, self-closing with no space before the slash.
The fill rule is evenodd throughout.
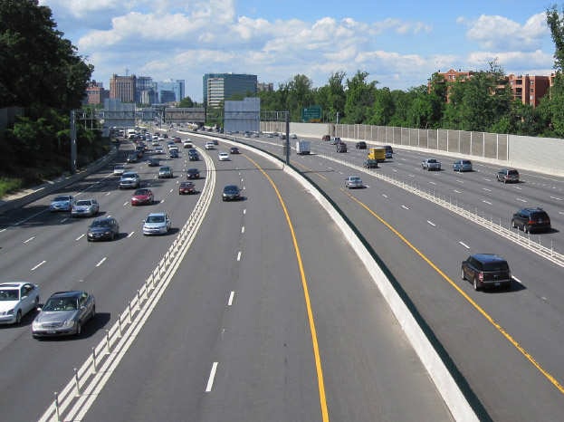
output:
<path id="1" fill-rule="evenodd" d="M 464 81 L 471 78 L 476 73 L 477 72 L 474 71 L 463 72 L 461 70 L 456 72 L 454 69 L 451 69 L 448 72 L 438 72 L 439 75 L 445 78 L 445 82 Z M 509 83 L 511 92 L 513 93 L 513 99 L 519 100 L 524 104 L 531 104 L 531 106 L 537 107 L 540 103 L 540 99 L 549 92 L 554 77 L 554 73 L 550 76 L 530 76 L 528 74 L 516 76 L 514 74 L 510 74 L 505 77 L 505 82 Z M 427 86 L 430 90 L 430 81 L 427 83 Z"/>

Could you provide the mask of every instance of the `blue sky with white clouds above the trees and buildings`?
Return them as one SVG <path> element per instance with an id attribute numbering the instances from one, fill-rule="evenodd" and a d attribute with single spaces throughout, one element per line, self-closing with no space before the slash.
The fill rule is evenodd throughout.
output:
<path id="1" fill-rule="evenodd" d="M 549 0 L 550 1 L 550 0 Z M 185 80 L 203 100 L 205 73 L 248 73 L 259 82 L 312 87 L 368 72 L 377 87 L 407 91 L 434 72 L 481 71 L 497 59 L 506 74 L 550 75 L 550 5 L 539 0 L 40 0 L 92 79 L 112 74 Z M 560 7 L 560 6 L 559 6 Z"/>

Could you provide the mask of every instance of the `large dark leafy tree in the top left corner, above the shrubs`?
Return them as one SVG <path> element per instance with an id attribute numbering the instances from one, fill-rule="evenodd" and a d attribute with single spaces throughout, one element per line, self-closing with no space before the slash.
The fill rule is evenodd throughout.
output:
<path id="1" fill-rule="evenodd" d="M 93 67 L 56 27 L 38 0 L 0 2 L 0 107 L 81 106 Z"/>

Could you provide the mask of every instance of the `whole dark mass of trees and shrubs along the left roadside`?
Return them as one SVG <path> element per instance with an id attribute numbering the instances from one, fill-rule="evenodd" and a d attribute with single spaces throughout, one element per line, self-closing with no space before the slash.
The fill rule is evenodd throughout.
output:
<path id="1" fill-rule="evenodd" d="M 37 0 L 0 0 L 0 52 L 0 108 L 24 108 L 0 141 L 10 158 L 0 177 L 34 182 L 69 170 L 70 111 L 81 108 L 93 68 Z M 79 166 L 108 149 L 99 132 L 77 135 Z"/>

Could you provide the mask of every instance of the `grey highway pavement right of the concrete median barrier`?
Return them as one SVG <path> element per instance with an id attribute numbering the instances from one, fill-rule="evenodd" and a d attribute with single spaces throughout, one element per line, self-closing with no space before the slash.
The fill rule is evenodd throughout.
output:
<path id="1" fill-rule="evenodd" d="M 282 156 L 280 140 L 264 136 L 241 140 Z M 319 139 L 311 139 L 311 148 L 320 155 L 296 156 L 292 151 L 292 164 L 311 177 L 368 239 L 494 420 L 559 420 L 564 409 L 559 352 L 564 340 L 564 271 L 532 250 L 540 239 L 542 245 L 564 252 L 560 231 L 564 181 L 521 172 L 521 183 L 504 185 L 495 181 L 500 167 L 474 162 L 472 173 L 454 173 L 455 158 L 396 146 L 394 158 L 373 170 L 447 202 L 464 203 L 465 209 L 487 220 L 501 219 L 505 228 L 520 207 L 543 207 L 553 229 L 531 235 L 529 249 L 406 189 L 336 162 L 361 166 L 367 150 L 356 150 L 353 142 L 348 153 L 338 154 Z M 429 157 L 442 161 L 444 169 L 422 170 L 420 163 Z M 348 176 L 362 177 L 367 187 L 347 191 L 343 186 Z M 511 291 L 476 293 L 461 279 L 461 262 L 474 253 L 500 254 L 508 260 L 514 278 Z"/>

